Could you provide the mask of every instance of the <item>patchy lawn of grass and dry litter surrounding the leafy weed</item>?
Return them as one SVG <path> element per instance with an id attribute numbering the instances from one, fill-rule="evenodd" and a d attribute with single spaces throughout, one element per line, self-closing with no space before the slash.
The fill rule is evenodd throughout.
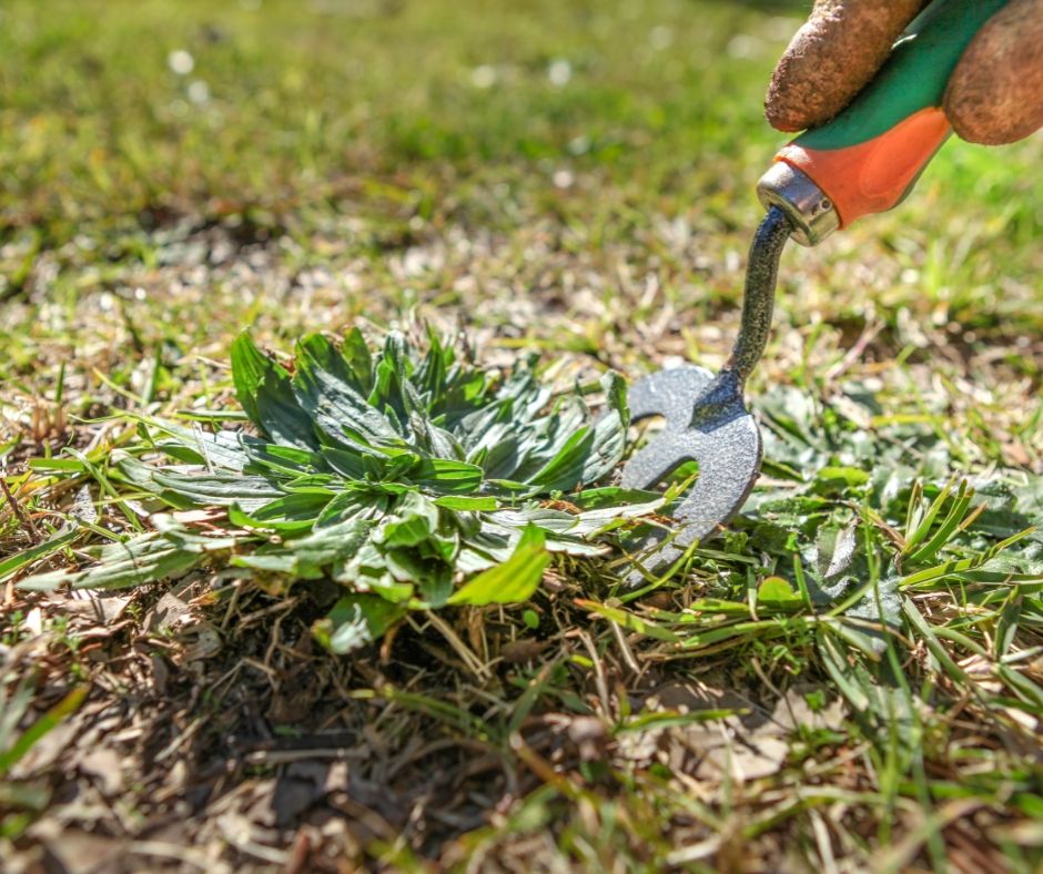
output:
<path id="1" fill-rule="evenodd" d="M 244 427 L 276 368 L 247 327 L 272 379 L 315 334 L 445 338 L 489 390 L 531 359 L 533 416 L 720 366 L 804 7 L 0 9 L 6 870 L 1039 870 L 1039 135 L 951 141 L 900 207 L 783 253 L 763 476 L 636 589 L 631 522 L 596 556 L 534 533 L 431 583 L 535 567 L 522 602 L 431 596 L 428 562 L 395 571 L 426 601 L 337 646 L 352 583 L 288 562 L 300 519 L 199 547 L 239 509 L 158 512 L 133 472 L 199 455 L 171 424 Z M 537 509 L 609 495 L 579 481 Z M 192 561 L 20 586 L 160 535 Z"/>

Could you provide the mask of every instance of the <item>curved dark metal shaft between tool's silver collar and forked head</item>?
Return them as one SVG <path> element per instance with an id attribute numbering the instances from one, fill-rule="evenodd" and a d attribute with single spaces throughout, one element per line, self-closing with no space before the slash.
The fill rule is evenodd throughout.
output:
<path id="1" fill-rule="evenodd" d="M 730 370 L 738 377 L 740 386 L 753 373 L 757 362 L 764 353 L 764 346 L 768 345 L 779 260 L 792 230 L 789 216 L 780 207 L 772 206 L 753 235 L 746 267 L 742 323 L 731 357 L 725 365 L 725 370 Z"/>

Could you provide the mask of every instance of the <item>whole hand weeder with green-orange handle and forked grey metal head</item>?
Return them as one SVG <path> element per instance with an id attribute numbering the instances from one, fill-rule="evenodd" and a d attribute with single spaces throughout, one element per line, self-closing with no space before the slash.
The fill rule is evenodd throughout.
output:
<path id="1" fill-rule="evenodd" d="M 699 475 L 675 509 L 681 522 L 646 568 L 658 571 L 720 530 L 746 502 L 760 474 L 760 430 L 743 386 L 771 328 L 779 260 L 792 236 L 818 245 L 833 231 L 901 203 L 952 133 L 942 110 L 949 77 L 981 27 L 1006 0 L 934 0 L 895 42 L 854 102 L 783 148 L 757 186 L 768 210 L 750 247 L 739 335 L 716 376 L 687 365 L 639 379 L 634 420 L 662 416 L 665 427 L 624 467 L 626 488 L 654 488 L 687 461 Z"/>

